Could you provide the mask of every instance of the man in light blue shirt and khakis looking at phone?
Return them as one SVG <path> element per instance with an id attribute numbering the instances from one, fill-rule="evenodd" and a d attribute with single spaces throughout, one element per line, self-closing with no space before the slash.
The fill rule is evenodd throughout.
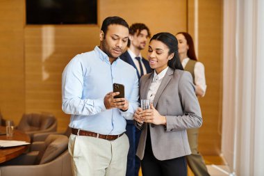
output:
<path id="1" fill-rule="evenodd" d="M 119 56 L 129 40 L 129 25 L 107 17 L 100 46 L 72 58 L 63 71 L 63 111 L 71 114 L 69 153 L 74 175 L 126 174 L 129 140 L 126 120 L 138 108 L 136 70 Z M 113 83 L 124 85 L 124 98 L 114 98 Z"/>

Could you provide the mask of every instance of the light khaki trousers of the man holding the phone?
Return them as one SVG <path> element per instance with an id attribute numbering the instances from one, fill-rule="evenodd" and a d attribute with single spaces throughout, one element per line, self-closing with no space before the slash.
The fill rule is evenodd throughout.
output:
<path id="1" fill-rule="evenodd" d="M 124 176 L 129 152 L 126 134 L 114 141 L 90 136 L 69 136 L 69 154 L 75 176 Z"/>

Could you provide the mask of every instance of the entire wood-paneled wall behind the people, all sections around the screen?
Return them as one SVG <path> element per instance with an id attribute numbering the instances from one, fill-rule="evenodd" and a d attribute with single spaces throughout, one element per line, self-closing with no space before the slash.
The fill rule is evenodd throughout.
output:
<path id="1" fill-rule="evenodd" d="M 104 18 L 119 15 L 129 24 L 145 23 L 152 35 L 162 31 L 192 33 L 188 5 L 191 0 L 99 0 L 98 25 L 25 25 L 24 0 L 0 1 L 0 109 L 4 118 L 18 122 L 24 112 L 53 113 L 58 130 L 63 131 L 69 115 L 61 110 L 61 74 L 76 54 L 99 45 Z M 206 67 L 208 86 L 206 97 L 200 99 L 202 154 L 220 152 L 221 12 L 222 0 L 199 0 L 199 60 Z M 147 49 L 142 52 L 146 54 Z"/>

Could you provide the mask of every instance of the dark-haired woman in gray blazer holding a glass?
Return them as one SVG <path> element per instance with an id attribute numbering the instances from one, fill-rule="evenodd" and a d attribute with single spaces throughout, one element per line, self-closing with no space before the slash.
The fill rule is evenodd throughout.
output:
<path id="1" fill-rule="evenodd" d="M 147 58 L 154 72 L 140 79 L 140 98 L 150 99 L 151 108 L 134 114 L 135 126 L 142 130 L 137 150 L 142 175 L 187 175 L 185 156 L 191 152 L 186 129 L 202 123 L 192 76 L 183 71 L 171 33 L 151 38 Z"/>

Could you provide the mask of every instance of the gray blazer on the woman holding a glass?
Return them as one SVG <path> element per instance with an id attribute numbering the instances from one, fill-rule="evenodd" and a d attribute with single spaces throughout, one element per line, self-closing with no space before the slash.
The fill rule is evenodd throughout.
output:
<path id="1" fill-rule="evenodd" d="M 147 99 L 154 72 L 140 79 L 140 98 Z M 145 153 L 147 128 L 150 130 L 151 146 L 158 160 L 174 159 L 191 153 L 186 129 L 201 127 L 199 102 L 195 95 L 190 72 L 167 70 L 153 102 L 160 115 L 165 115 L 165 125 L 144 123 L 136 155 L 142 160 Z"/>

